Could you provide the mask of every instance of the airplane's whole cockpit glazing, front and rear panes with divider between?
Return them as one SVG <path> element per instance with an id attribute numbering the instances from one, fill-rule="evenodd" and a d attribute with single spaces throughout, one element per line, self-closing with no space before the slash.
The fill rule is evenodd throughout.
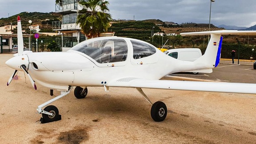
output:
<path id="1" fill-rule="evenodd" d="M 131 50 L 133 50 L 133 59 L 140 59 L 156 53 L 156 48 L 151 44 L 135 39 L 128 40 L 132 43 L 132 48 L 128 48 L 124 38 L 105 37 L 85 40 L 70 50 L 83 52 L 98 63 L 125 61 L 127 53 Z"/>

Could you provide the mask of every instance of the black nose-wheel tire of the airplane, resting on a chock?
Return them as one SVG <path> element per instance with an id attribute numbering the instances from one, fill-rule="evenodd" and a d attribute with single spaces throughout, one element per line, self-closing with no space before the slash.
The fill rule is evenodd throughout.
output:
<path id="1" fill-rule="evenodd" d="M 59 110 L 56 106 L 49 105 L 46 108 L 44 108 L 44 111 L 53 113 L 53 116 L 50 116 L 50 115 L 47 115 L 47 114 L 44 114 L 44 113 L 42 114 L 43 120 L 44 120 L 45 123 L 49 123 L 49 122 L 59 120 Z"/>

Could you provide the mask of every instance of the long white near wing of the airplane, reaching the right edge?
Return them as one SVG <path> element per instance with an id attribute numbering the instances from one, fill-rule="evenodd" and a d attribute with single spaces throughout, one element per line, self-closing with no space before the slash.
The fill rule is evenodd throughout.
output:
<path id="1" fill-rule="evenodd" d="M 112 81 L 106 86 L 256 94 L 256 84 L 247 83 L 148 80 L 129 77 Z"/>

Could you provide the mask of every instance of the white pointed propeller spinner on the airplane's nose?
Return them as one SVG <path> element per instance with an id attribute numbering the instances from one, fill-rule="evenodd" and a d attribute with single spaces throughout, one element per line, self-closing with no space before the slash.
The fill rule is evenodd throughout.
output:
<path id="1" fill-rule="evenodd" d="M 15 56 L 5 62 L 8 67 L 22 71 L 20 65 L 24 64 L 28 68 L 29 60 L 27 55 Z"/>

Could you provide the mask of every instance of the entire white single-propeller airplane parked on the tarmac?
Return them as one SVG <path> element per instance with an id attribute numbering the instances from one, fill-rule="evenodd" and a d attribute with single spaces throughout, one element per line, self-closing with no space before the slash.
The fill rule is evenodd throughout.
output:
<path id="1" fill-rule="evenodd" d="M 17 71 L 24 71 L 35 89 L 36 84 L 40 84 L 50 88 L 51 95 L 53 89 L 61 92 L 59 96 L 38 106 L 42 123 L 61 119 L 58 108 L 47 105 L 70 93 L 74 86 L 74 95 L 78 99 L 86 97 L 89 86 L 102 87 L 105 91 L 109 87 L 136 88 L 152 104 L 152 119 L 163 121 L 167 115 L 166 105 L 160 101 L 153 104 L 141 88 L 256 94 L 256 84 L 160 80 L 174 72 L 212 72 L 220 60 L 221 35 L 252 33 L 256 31 L 181 33 L 182 36 L 211 35 L 205 54 L 193 62 L 167 56 L 144 41 L 116 36 L 85 40 L 68 52 L 23 52 L 18 16 L 18 53 L 6 61 L 15 72 L 7 85 Z"/>

